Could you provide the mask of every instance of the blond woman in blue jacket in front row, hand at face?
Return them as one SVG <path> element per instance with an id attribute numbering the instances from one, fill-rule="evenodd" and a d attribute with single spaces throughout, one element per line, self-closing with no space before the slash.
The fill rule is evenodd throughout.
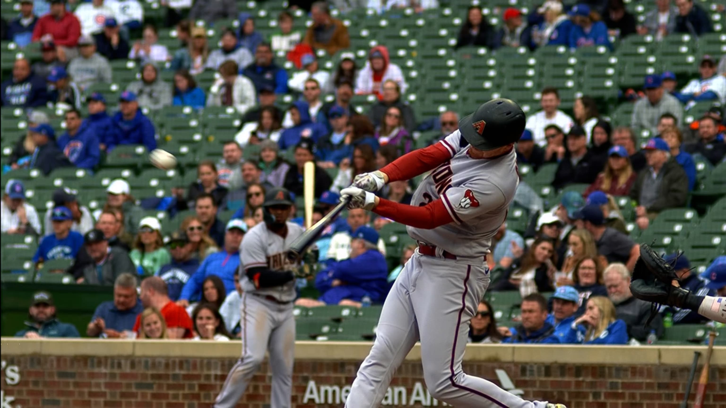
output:
<path id="1" fill-rule="evenodd" d="M 592 296 L 585 313 L 577 318 L 566 336 L 566 343 L 627 344 L 628 327 L 615 317 L 615 306 L 605 296 Z"/>

